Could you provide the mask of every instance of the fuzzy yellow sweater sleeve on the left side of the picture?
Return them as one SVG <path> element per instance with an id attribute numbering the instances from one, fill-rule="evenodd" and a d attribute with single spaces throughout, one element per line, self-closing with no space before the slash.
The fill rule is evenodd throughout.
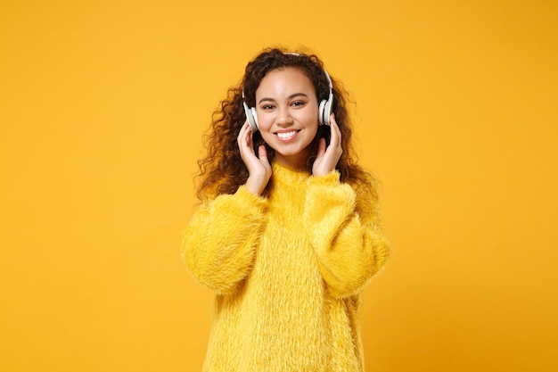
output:
<path id="1" fill-rule="evenodd" d="M 234 291 L 254 260 L 267 200 L 245 186 L 196 211 L 183 231 L 182 253 L 193 276 L 217 294 Z"/>

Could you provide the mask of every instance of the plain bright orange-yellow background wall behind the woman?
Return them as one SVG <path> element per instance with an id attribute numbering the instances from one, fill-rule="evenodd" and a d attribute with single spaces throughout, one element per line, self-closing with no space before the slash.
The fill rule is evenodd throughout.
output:
<path id="1" fill-rule="evenodd" d="M 260 48 L 352 94 L 393 257 L 368 370 L 558 369 L 553 1 L 0 2 L 0 370 L 196 371 L 201 134 Z"/>

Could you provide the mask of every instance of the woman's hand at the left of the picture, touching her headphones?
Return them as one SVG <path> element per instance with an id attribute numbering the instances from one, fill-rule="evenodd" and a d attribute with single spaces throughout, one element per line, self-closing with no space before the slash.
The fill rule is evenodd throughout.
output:
<path id="1" fill-rule="evenodd" d="M 246 188 L 251 194 L 260 195 L 266 188 L 269 178 L 271 178 L 271 164 L 267 160 L 266 146 L 260 145 L 258 156 L 256 156 L 252 142 L 252 130 L 248 120 L 242 126 L 237 142 L 242 161 L 244 161 L 250 174 L 246 180 Z"/>

